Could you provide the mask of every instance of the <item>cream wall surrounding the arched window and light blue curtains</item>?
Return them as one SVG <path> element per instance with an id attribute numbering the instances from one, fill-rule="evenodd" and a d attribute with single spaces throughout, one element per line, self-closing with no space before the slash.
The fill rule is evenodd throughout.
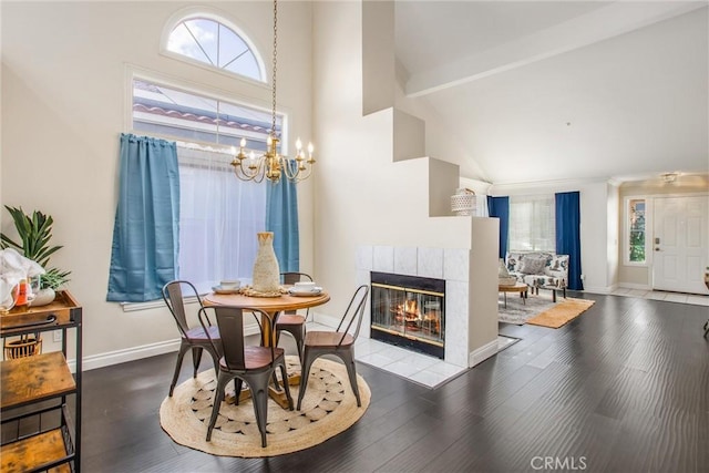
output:
<path id="1" fill-rule="evenodd" d="M 242 27 L 266 64 L 270 63 L 273 3 L 201 4 Z M 164 24 L 184 7 L 175 2 L 2 4 L 0 199 L 3 205 L 53 216 L 53 243 L 64 248 L 52 264 L 72 271 L 69 289 L 84 310 L 88 368 L 100 353 L 126 356 L 121 350 L 140 346 L 160 351 L 178 336 L 163 307 L 124 312 L 105 301 L 119 135 L 127 131 L 124 116 L 130 111 L 126 64 L 270 107 L 268 84 L 243 82 L 160 54 Z M 290 112 L 292 140 L 311 136 L 310 18 L 309 2 L 279 6 L 278 102 Z M 322 162 L 330 158 L 322 156 Z M 299 198 L 302 269 L 312 271 L 312 184 L 300 185 Z M 12 232 L 6 215 L 2 230 Z M 93 366 L 104 362 L 111 360 L 96 360 Z"/>

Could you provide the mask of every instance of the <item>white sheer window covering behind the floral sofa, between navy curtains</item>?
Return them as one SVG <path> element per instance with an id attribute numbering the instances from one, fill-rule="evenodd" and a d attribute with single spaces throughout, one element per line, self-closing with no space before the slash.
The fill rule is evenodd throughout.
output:
<path id="1" fill-rule="evenodd" d="M 556 251 L 554 196 L 510 197 L 510 250 Z"/>

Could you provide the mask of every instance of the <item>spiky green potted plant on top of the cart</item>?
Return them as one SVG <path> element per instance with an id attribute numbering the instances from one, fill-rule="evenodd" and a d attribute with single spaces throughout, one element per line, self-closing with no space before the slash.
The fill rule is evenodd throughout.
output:
<path id="1" fill-rule="evenodd" d="M 71 274 L 71 271 L 49 267 L 50 257 L 62 248 L 62 246 L 58 245 L 50 246 L 54 220 L 51 215 L 44 215 L 39 210 L 28 215 L 22 210 L 22 207 L 16 208 L 6 205 L 4 208 L 8 209 L 14 222 L 14 228 L 20 240 L 16 241 L 8 235 L 0 233 L 0 247 L 2 249 L 14 248 L 25 258 L 38 263 L 44 268 L 47 273 L 40 277 L 40 294 L 35 296 L 32 305 L 39 306 L 41 305 L 40 301 L 47 299 L 49 300 L 44 304 L 49 304 L 54 300 L 54 291 L 69 282 L 69 275 Z"/>

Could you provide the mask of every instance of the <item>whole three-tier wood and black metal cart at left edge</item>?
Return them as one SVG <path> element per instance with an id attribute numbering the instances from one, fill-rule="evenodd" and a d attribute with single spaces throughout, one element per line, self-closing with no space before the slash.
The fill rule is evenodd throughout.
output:
<path id="1" fill-rule="evenodd" d="M 59 291 L 54 301 L 47 306 L 14 307 L 0 316 L 0 338 L 22 335 L 38 338 L 41 332 L 53 330 L 62 332 L 61 351 L 0 362 L 3 435 L 6 431 L 17 433 L 14 438 L 6 439 L 6 444 L 0 446 L 2 473 L 81 471 L 81 306 L 68 291 Z M 70 330 L 75 333 L 74 376 L 66 363 L 66 338 Z M 53 412 L 60 412 L 59 419 L 50 420 L 49 424 L 43 423 L 44 414 Z M 49 418 L 54 419 L 53 415 Z M 38 426 L 31 434 L 20 434 L 21 424 Z M 51 464 L 56 465 L 48 469 Z"/>

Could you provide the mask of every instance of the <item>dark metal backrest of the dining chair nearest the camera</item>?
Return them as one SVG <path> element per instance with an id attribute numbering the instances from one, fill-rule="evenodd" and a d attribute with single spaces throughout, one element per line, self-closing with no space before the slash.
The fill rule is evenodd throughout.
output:
<path id="1" fill-rule="evenodd" d="M 213 340 L 209 337 L 209 313 L 213 313 L 219 328 L 220 340 Z M 207 337 L 212 341 L 214 349 L 217 353 L 224 353 L 224 361 L 230 371 L 244 371 L 246 370 L 245 363 L 245 348 L 246 340 L 244 338 L 244 315 L 250 313 L 258 322 L 259 331 L 263 333 L 263 323 L 269 323 L 273 326 L 271 317 L 268 312 L 255 308 L 239 308 L 232 306 L 208 306 L 199 309 L 199 322 L 204 328 Z M 259 316 L 261 320 L 259 320 Z M 260 339 L 260 336 L 259 336 Z M 222 343 L 222 347 L 217 347 Z M 271 361 L 275 358 L 275 349 L 270 347 Z"/>

